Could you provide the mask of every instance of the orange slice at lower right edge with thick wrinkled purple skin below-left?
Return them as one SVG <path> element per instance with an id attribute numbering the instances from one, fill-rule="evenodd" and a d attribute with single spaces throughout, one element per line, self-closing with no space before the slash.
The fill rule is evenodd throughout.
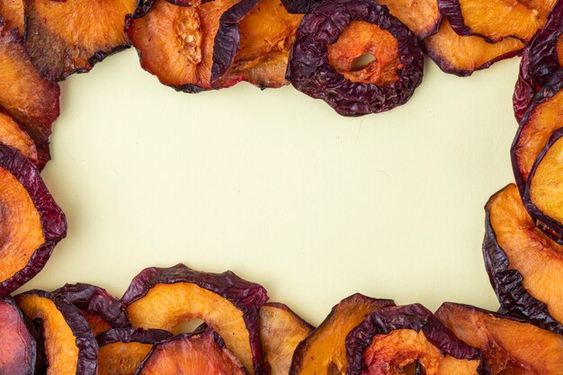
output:
<path id="1" fill-rule="evenodd" d="M 563 332 L 563 246 L 535 226 L 514 184 L 496 192 L 485 210 L 483 254 L 502 307 Z"/>

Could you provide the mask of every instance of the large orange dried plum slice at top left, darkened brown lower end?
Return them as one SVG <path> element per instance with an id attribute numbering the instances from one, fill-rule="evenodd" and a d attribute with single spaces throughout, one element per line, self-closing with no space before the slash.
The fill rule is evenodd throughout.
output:
<path id="1" fill-rule="evenodd" d="M 112 53 L 129 47 L 125 15 L 135 0 L 24 0 L 26 48 L 43 76 L 60 81 L 85 73 Z M 95 27 L 94 27 L 95 25 Z"/>

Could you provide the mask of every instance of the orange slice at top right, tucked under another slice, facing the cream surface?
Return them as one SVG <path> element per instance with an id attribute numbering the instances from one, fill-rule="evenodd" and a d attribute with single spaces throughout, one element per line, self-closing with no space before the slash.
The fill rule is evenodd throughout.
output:
<path id="1" fill-rule="evenodd" d="M 440 31 L 424 40 L 424 48 L 444 72 L 471 76 L 476 70 L 486 69 L 497 61 L 519 55 L 524 44 L 514 38 L 505 38 L 493 44 L 478 36 L 460 36 L 444 19 Z"/>

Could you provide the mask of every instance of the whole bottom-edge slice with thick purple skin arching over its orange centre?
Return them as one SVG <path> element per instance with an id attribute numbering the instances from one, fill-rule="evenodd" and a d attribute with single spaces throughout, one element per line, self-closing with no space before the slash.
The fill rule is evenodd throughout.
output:
<path id="1" fill-rule="evenodd" d="M 347 375 L 398 374 L 409 365 L 427 375 L 488 375 L 482 354 L 418 304 L 373 311 L 346 336 L 346 354 Z"/>

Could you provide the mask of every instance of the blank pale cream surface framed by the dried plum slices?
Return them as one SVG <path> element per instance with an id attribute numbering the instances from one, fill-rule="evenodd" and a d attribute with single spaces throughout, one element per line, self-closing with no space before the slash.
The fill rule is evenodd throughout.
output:
<path id="1" fill-rule="evenodd" d="M 518 59 L 469 78 L 426 61 L 413 99 L 346 119 L 291 87 L 180 94 L 125 51 L 62 85 L 44 178 L 69 235 L 22 290 L 183 262 L 264 284 L 317 324 L 359 291 L 497 308 L 483 206 L 513 181 Z"/>

